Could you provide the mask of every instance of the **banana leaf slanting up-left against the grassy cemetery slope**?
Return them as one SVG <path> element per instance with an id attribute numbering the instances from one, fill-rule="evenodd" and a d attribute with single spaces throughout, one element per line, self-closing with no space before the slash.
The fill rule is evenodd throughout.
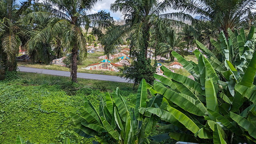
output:
<path id="1" fill-rule="evenodd" d="M 183 65 L 183 68 L 185 68 L 190 74 L 192 74 L 195 79 L 198 79 L 200 77 L 198 67 L 195 68 L 192 64 L 190 64 L 190 62 L 185 60 L 185 58 L 180 56 L 180 54 L 175 51 L 172 51 L 172 55 L 177 58 L 177 60 Z"/>

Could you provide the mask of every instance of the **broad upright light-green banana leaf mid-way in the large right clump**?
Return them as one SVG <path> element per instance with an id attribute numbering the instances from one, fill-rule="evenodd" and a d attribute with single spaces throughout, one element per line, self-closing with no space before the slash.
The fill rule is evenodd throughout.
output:
<path id="1" fill-rule="evenodd" d="M 215 112 L 219 112 L 218 101 L 215 92 L 215 88 L 212 79 L 206 79 L 205 81 L 205 97 L 206 97 L 206 107 Z M 215 120 L 213 116 L 209 114 L 212 120 Z"/>

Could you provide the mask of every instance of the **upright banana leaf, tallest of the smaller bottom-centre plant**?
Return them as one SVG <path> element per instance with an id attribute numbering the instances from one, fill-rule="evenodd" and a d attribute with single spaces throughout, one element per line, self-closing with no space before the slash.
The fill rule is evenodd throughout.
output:
<path id="1" fill-rule="evenodd" d="M 146 87 L 146 80 L 142 79 L 137 92 L 136 105 L 135 105 L 135 117 L 137 120 L 142 120 L 142 115 L 138 112 L 138 108 L 146 108 L 148 91 Z"/>

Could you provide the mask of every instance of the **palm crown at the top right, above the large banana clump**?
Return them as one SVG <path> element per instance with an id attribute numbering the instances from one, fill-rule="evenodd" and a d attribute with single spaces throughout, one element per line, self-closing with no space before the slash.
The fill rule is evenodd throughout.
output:
<path id="1" fill-rule="evenodd" d="M 183 0 L 174 6 L 191 14 L 202 16 L 203 21 L 209 21 L 209 27 L 223 30 L 228 38 L 228 28 L 235 30 L 248 24 L 255 17 L 256 0 Z M 255 21 L 255 20 L 252 20 Z"/>

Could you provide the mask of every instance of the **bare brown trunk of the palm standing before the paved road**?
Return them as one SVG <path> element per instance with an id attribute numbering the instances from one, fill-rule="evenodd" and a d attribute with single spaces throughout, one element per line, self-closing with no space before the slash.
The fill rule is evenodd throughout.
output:
<path id="1" fill-rule="evenodd" d="M 78 48 L 75 45 L 74 48 L 72 49 L 72 67 L 71 67 L 71 76 L 72 76 L 72 82 L 77 83 L 77 53 L 78 53 Z"/>

